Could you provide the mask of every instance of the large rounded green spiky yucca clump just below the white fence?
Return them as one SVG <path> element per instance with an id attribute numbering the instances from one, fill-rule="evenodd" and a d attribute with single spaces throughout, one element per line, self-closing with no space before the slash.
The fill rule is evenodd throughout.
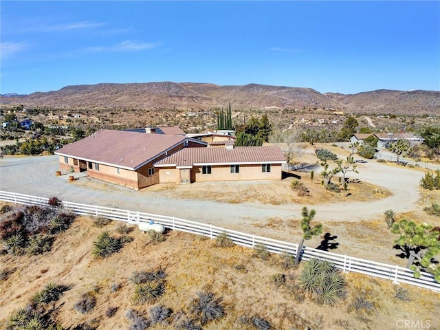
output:
<path id="1" fill-rule="evenodd" d="M 345 283 L 329 261 L 311 259 L 298 278 L 298 283 L 317 303 L 335 305 L 344 296 Z"/>

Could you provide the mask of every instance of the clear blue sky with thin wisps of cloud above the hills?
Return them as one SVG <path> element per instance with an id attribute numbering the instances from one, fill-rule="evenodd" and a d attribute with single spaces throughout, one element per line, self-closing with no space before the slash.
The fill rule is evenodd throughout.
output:
<path id="1" fill-rule="evenodd" d="M 440 90 L 440 1 L 1 1 L 0 94 L 174 81 Z"/>

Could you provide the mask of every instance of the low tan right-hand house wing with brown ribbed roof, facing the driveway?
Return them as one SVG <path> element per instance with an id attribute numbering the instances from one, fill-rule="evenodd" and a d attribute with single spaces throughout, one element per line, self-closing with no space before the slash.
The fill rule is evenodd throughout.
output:
<path id="1" fill-rule="evenodd" d="M 155 162 L 159 182 L 280 180 L 286 164 L 278 146 L 183 148 Z"/>

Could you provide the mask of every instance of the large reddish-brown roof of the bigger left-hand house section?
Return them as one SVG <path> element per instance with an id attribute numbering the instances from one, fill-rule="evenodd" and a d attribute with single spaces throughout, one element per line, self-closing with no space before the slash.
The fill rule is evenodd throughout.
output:
<path id="1" fill-rule="evenodd" d="M 184 136 L 104 130 L 67 144 L 55 153 L 135 170 L 168 149 L 183 145 L 185 140 Z"/>

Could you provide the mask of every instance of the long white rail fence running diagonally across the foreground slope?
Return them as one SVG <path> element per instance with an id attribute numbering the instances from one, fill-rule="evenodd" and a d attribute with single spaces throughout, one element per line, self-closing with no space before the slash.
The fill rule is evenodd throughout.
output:
<path id="1" fill-rule="evenodd" d="M 15 192 L 0 191 L 0 200 L 20 204 L 34 204 L 46 205 L 48 198 L 36 197 L 30 195 L 17 194 Z M 440 283 L 434 281 L 434 277 L 426 272 L 421 272 L 419 278 L 415 278 L 412 270 L 408 268 L 399 267 L 398 265 L 388 265 L 385 263 L 377 263 L 365 259 L 354 258 L 347 255 L 331 253 L 322 250 L 316 250 L 303 246 L 298 251 L 298 244 L 278 241 L 276 239 L 268 239 L 254 234 L 245 234 L 243 232 L 236 232 L 214 225 L 179 219 L 175 217 L 166 217 L 157 214 L 150 214 L 144 212 L 133 212 L 130 210 L 121 210 L 118 208 L 106 208 L 102 206 L 92 206 L 81 203 L 71 203 L 69 201 L 62 201 L 63 208 L 75 214 L 91 215 L 94 217 L 106 217 L 108 219 L 124 221 L 131 224 L 139 224 L 149 222 L 151 220 L 155 223 L 164 225 L 165 228 L 172 230 L 179 230 L 181 232 L 190 232 L 207 236 L 210 239 L 216 238 L 219 234 L 225 232 L 230 239 L 237 245 L 253 248 L 256 244 L 264 244 L 269 252 L 283 254 L 289 253 L 296 256 L 300 253 L 300 259 L 310 260 L 313 258 L 331 261 L 335 267 L 343 272 L 355 272 L 375 276 L 391 280 L 394 283 L 406 283 L 431 289 L 440 292 Z"/>

